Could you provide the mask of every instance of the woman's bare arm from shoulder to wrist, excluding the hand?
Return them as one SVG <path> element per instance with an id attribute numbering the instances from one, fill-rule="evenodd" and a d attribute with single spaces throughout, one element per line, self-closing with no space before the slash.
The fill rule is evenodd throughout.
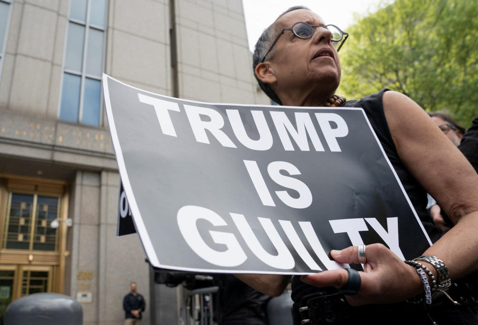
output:
<path id="1" fill-rule="evenodd" d="M 383 107 L 401 161 L 456 224 L 425 254 L 443 260 L 452 279 L 477 270 L 477 173 L 411 99 L 386 92 Z"/>

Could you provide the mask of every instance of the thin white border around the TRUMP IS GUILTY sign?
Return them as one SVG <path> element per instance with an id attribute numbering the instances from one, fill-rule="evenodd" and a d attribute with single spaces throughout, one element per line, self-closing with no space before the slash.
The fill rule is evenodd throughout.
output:
<path id="1" fill-rule="evenodd" d="M 124 191 L 126 192 L 126 197 L 128 199 L 129 206 L 131 207 L 131 213 L 132 213 L 132 216 L 133 216 L 133 221 L 134 221 L 134 225 L 135 225 L 135 228 L 136 228 L 136 232 L 139 234 L 139 237 L 141 239 L 141 243 L 143 245 L 143 249 L 144 249 L 144 251 L 146 253 L 146 256 L 148 257 L 149 262 L 151 263 L 151 265 L 156 267 L 156 268 L 170 269 L 170 270 L 176 270 L 176 271 L 205 272 L 205 273 L 250 273 L 251 271 L 194 269 L 194 268 L 176 267 L 176 266 L 171 266 L 171 265 L 163 265 L 163 264 L 159 263 L 158 257 L 156 255 L 156 251 L 154 250 L 154 247 L 151 243 L 151 239 L 148 235 L 148 231 L 146 230 L 146 227 L 143 223 L 141 213 L 139 212 L 139 208 L 138 208 L 138 205 L 136 203 L 136 199 L 134 197 L 133 190 L 131 188 L 131 183 L 129 182 L 129 177 L 128 177 L 128 173 L 126 171 L 126 166 L 124 164 L 123 155 L 122 155 L 122 152 L 121 152 L 121 146 L 119 145 L 119 140 L 118 140 L 118 133 L 116 131 L 115 120 L 113 118 L 113 111 L 111 109 L 110 91 L 108 89 L 108 78 L 110 78 L 110 79 L 112 79 L 116 82 L 119 82 L 120 84 L 123 84 L 127 87 L 130 87 L 130 88 L 133 88 L 133 89 L 145 92 L 145 93 L 149 93 L 149 94 L 153 94 L 153 95 L 158 95 L 158 94 L 155 94 L 153 92 L 146 91 L 146 90 L 143 90 L 143 89 L 140 89 L 140 88 L 137 88 L 137 87 L 130 86 L 130 85 L 128 85 L 124 82 L 121 82 L 121 81 L 119 81 L 119 80 L 117 80 L 113 77 L 110 77 L 109 75 L 107 75 L 105 73 L 103 73 L 102 78 L 103 78 L 103 92 L 105 94 L 106 114 L 108 116 L 111 139 L 113 141 L 113 147 L 115 149 L 116 159 L 118 161 L 119 175 L 121 177 L 121 181 L 123 182 L 123 188 L 124 188 Z M 169 97 L 169 96 L 165 96 L 165 95 L 160 95 L 160 96 L 175 99 L 173 97 Z M 241 107 L 244 106 L 243 104 L 203 103 L 203 102 L 197 102 L 197 101 L 189 101 L 189 102 L 196 103 L 196 104 L 228 105 L 228 106 L 241 106 Z M 272 106 L 272 105 L 247 105 L 247 106 L 250 106 L 250 107 L 270 107 L 270 108 L 275 108 L 275 109 L 292 108 L 292 109 L 295 109 L 295 110 L 297 110 L 297 109 L 317 109 L 317 110 L 330 109 L 328 107 L 297 107 L 297 106 Z M 423 227 L 422 222 L 418 218 L 417 212 L 415 211 L 415 208 L 413 207 L 412 202 L 410 201 L 410 198 L 408 197 L 407 193 L 405 192 L 405 189 L 403 188 L 403 185 L 402 185 L 400 179 L 398 178 L 398 175 L 395 172 L 395 169 L 393 168 L 392 164 L 388 160 L 388 157 L 385 154 L 385 151 L 383 150 L 382 145 L 380 144 L 380 141 L 378 140 L 378 138 L 375 134 L 375 131 L 373 131 L 372 126 L 371 126 L 370 122 L 368 121 L 367 116 L 365 115 L 365 112 L 363 111 L 363 109 L 356 108 L 356 107 L 343 107 L 341 109 L 343 109 L 343 110 L 360 110 L 362 112 L 362 114 L 363 114 L 363 116 L 364 116 L 364 118 L 365 118 L 365 120 L 368 124 L 368 127 L 370 128 L 370 131 L 372 132 L 372 134 L 375 138 L 375 141 L 377 142 L 378 146 L 380 147 L 380 150 L 381 150 L 383 156 L 385 157 L 385 160 L 387 161 L 390 169 L 392 170 L 393 175 L 395 176 L 395 179 L 397 180 L 398 185 L 400 186 L 400 189 L 402 190 L 403 194 L 405 195 L 405 198 L 406 198 L 408 204 L 410 205 L 410 208 L 412 209 L 413 214 L 415 215 L 415 218 L 418 221 L 418 224 L 420 225 L 423 233 L 425 234 L 425 237 L 428 240 L 428 243 L 431 246 L 432 241 L 430 240 L 430 237 L 428 236 L 427 232 L 425 231 L 425 228 Z M 269 271 L 267 271 L 267 272 L 265 272 L 265 271 L 254 271 L 254 273 L 256 273 L 256 274 L 289 274 L 289 275 L 313 274 L 311 272 L 298 273 L 298 272 L 269 272 Z"/>

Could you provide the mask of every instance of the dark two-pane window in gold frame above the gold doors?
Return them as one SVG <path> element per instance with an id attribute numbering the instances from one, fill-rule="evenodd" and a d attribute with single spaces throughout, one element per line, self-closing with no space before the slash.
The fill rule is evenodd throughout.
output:
<path id="1" fill-rule="evenodd" d="M 11 193 L 2 248 L 57 251 L 57 229 L 51 222 L 59 218 L 59 197 Z"/>

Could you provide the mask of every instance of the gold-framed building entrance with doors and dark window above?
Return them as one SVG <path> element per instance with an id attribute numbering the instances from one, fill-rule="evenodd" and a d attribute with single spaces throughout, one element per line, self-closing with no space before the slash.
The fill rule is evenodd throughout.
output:
<path id="1" fill-rule="evenodd" d="M 5 180 L 0 182 L 0 318 L 15 299 L 63 293 L 68 215 L 65 183 Z"/>

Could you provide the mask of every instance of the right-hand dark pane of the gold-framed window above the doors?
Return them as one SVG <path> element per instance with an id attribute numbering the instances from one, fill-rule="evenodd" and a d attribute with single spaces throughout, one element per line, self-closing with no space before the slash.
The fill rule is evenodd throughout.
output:
<path id="1" fill-rule="evenodd" d="M 56 249 L 57 229 L 52 228 L 50 223 L 57 217 L 58 197 L 38 196 L 33 250 L 54 251 Z"/>

